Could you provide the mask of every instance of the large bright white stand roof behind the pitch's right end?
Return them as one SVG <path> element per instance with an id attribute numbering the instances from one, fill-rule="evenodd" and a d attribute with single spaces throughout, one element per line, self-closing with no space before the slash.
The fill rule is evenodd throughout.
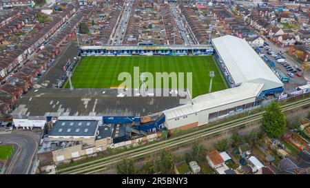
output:
<path id="1" fill-rule="evenodd" d="M 237 85 L 243 82 L 264 83 L 263 91 L 283 87 L 276 74 L 244 39 L 225 35 L 212 39 L 212 43 Z"/>

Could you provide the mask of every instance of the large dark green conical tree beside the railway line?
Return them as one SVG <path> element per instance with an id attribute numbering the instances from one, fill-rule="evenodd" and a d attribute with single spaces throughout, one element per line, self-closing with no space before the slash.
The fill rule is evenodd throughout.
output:
<path id="1" fill-rule="evenodd" d="M 262 114 L 263 129 L 271 138 L 280 138 L 284 134 L 286 126 L 285 114 L 280 105 L 273 101 Z"/>

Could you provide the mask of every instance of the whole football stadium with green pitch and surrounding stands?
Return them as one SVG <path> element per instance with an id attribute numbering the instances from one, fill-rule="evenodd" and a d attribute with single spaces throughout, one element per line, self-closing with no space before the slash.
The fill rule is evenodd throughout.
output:
<path id="1" fill-rule="evenodd" d="M 64 72 L 72 72 L 65 88 L 39 88 L 21 98 L 12 113 L 14 125 L 29 129 L 54 118 L 87 116 L 134 132 L 189 129 L 259 107 L 284 90 L 247 41 L 235 36 L 220 36 L 204 46 L 82 46 L 80 56 L 79 63 L 64 67 Z M 118 81 L 118 74 L 132 75 L 134 67 L 153 75 L 192 72 L 191 98 L 119 96 L 123 81 Z M 209 93 L 210 71 L 215 76 Z M 172 94 L 174 88 L 156 89 Z"/>

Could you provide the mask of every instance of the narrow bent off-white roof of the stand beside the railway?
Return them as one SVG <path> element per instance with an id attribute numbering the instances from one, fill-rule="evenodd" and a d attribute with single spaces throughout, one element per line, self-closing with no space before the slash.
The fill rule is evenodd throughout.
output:
<path id="1" fill-rule="evenodd" d="M 167 119 L 194 114 L 205 109 L 211 109 L 221 105 L 242 101 L 247 98 L 258 96 L 262 91 L 263 83 L 242 83 L 238 87 L 232 87 L 227 90 L 203 94 L 192 99 L 192 103 L 181 105 L 173 109 L 164 111 Z"/>

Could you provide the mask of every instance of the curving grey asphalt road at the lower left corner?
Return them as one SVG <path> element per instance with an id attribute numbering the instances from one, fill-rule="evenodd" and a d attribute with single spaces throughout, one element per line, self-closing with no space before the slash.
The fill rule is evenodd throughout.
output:
<path id="1" fill-rule="evenodd" d="M 40 139 L 41 131 L 14 130 L 11 134 L 0 134 L 1 145 L 12 144 L 15 148 L 10 165 L 4 173 L 30 174 Z"/>

